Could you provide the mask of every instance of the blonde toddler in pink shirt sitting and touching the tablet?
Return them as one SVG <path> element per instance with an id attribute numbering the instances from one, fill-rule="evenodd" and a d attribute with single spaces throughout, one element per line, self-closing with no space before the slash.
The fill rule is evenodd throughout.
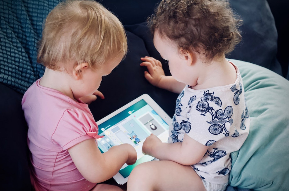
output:
<path id="1" fill-rule="evenodd" d="M 121 190 L 99 184 L 137 154 L 129 144 L 101 153 L 98 127 L 88 104 L 102 77 L 127 53 L 121 22 L 95 1 L 66 1 L 47 16 L 37 61 L 44 75 L 25 92 L 31 181 L 37 190 Z M 96 186 L 97 185 L 97 186 Z"/>

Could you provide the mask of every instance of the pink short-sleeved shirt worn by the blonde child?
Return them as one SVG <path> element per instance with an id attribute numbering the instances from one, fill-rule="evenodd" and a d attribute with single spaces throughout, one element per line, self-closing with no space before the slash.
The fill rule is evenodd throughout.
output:
<path id="1" fill-rule="evenodd" d="M 96 184 L 79 173 L 67 149 L 94 138 L 91 134 L 98 138 L 92 113 L 87 104 L 43 87 L 39 80 L 22 99 L 28 124 L 32 184 L 36 190 L 91 190 Z"/>

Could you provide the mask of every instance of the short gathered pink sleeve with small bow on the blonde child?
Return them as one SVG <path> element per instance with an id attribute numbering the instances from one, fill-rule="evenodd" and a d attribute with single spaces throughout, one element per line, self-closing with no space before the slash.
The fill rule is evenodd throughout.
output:
<path id="1" fill-rule="evenodd" d="M 92 115 L 79 109 L 68 109 L 64 111 L 51 138 L 54 143 L 66 150 L 82 141 L 93 138 L 87 134 L 88 132 L 98 132 L 97 124 Z"/>

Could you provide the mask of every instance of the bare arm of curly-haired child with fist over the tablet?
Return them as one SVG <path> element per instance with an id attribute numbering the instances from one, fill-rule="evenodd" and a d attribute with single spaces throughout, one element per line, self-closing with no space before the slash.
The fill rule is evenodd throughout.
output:
<path id="1" fill-rule="evenodd" d="M 162 143 L 155 135 L 146 138 L 142 152 L 160 160 L 171 160 L 183 165 L 198 163 L 207 151 L 208 146 L 190 138 L 187 134 L 183 142 Z"/>

